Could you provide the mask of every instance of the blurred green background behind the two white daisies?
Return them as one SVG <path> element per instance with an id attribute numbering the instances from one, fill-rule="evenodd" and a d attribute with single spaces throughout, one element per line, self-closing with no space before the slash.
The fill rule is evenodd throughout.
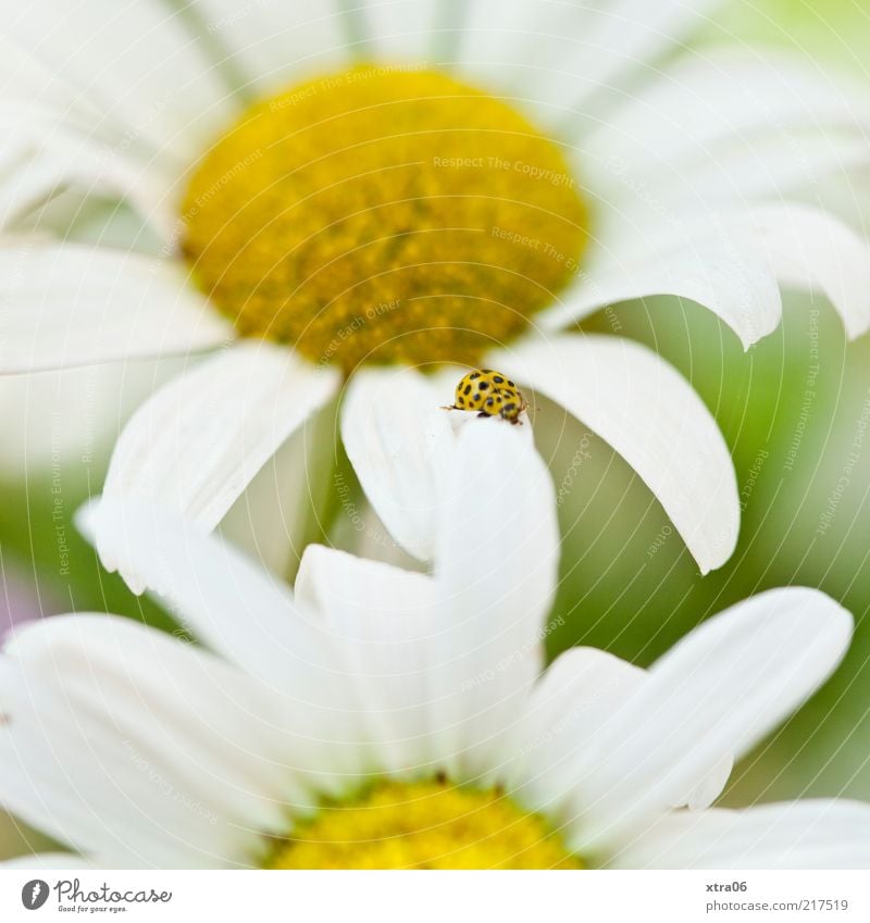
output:
<path id="1" fill-rule="evenodd" d="M 870 12 L 855 0 L 736 2 L 724 24 L 741 37 L 787 43 L 821 66 L 852 70 L 868 79 L 870 92 L 863 64 Z M 744 511 L 737 551 L 706 577 L 679 536 L 668 534 L 667 516 L 631 469 L 582 424 L 538 401 L 547 421 L 536 429 L 540 449 L 557 489 L 566 487 L 557 602 L 566 623 L 549 638 L 551 654 L 595 645 L 648 664 L 704 618 L 785 584 L 820 587 L 855 614 L 846 661 L 737 766 L 725 795 L 732 804 L 807 795 L 870 800 L 870 336 L 847 345 L 823 299 L 788 296 L 786 302 L 782 328 L 748 353 L 710 314 L 673 299 L 624 304 L 584 324 L 655 348 L 716 414 L 733 452 Z M 47 378 L 40 387 L 54 390 L 60 408 L 51 420 L 35 419 L 24 398 L 0 401 L 0 419 L 22 416 L 7 426 L 5 449 L 0 445 L 0 576 L 8 603 L 21 606 L 23 593 L 37 611 L 108 610 L 173 629 L 157 607 L 99 569 L 72 525 L 79 502 L 99 490 L 117 425 L 98 432 L 95 406 L 84 436 L 62 436 L 64 396 L 80 394 L 83 381 L 85 394 L 108 389 L 111 403 L 102 411 L 120 421 L 152 381 L 171 371 L 140 365 L 117 378 L 92 370 Z M 46 442 L 28 458 L 15 451 L 25 424 L 28 438 L 33 431 Z M 585 456 L 571 473 L 581 445 Z M 848 483 L 838 490 L 844 476 Z M 23 851 L 24 840 L 42 845 L 0 820 L 0 856 Z"/>

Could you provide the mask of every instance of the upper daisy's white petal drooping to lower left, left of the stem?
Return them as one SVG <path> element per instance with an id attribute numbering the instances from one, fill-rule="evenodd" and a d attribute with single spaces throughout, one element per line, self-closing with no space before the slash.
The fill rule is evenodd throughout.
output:
<path id="1" fill-rule="evenodd" d="M 148 499 L 214 528 L 253 476 L 335 394 L 333 370 L 240 341 L 159 390 L 117 440 L 103 496 Z M 113 540 L 98 535 L 107 566 Z M 135 576 L 129 575 L 135 583 Z"/>

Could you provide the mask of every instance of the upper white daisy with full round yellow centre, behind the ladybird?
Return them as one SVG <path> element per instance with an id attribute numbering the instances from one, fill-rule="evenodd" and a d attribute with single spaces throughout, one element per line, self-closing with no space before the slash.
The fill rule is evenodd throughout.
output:
<path id="1" fill-rule="evenodd" d="M 490 365 L 721 565 L 739 506 L 706 407 L 649 350 L 569 330 L 671 294 L 748 346 L 779 283 L 867 329 L 843 194 L 870 108 L 806 64 L 691 52 L 714 7 L 27 4 L 0 55 L 0 372 L 232 344 L 130 422 L 105 487 L 212 528 L 350 372 L 352 394 L 375 363 Z"/>

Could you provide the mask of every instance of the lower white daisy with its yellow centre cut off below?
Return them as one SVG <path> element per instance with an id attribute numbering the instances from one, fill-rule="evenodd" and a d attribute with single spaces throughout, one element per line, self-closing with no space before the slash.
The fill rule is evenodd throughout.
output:
<path id="1" fill-rule="evenodd" d="M 206 648 L 104 615 L 17 633 L 0 800 L 76 851 L 37 861 L 870 866 L 870 806 L 709 808 L 734 757 L 835 668 L 846 611 L 772 590 L 648 671 L 587 648 L 544 670 L 545 465 L 519 428 L 473 424 L 449 479 L 432 576 L 311 546 L 290 593 L 153 510 L 123 528 L 127 564 Z"/>

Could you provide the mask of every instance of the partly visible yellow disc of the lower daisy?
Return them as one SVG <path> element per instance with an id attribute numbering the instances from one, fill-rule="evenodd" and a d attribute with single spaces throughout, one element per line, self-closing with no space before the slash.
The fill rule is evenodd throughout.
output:
<path id="1" fill-rule="evenodd" d="M 504 795 L 437 782 L 381 783 L 281 840 L 270 869 L 582 869 Z"/>

